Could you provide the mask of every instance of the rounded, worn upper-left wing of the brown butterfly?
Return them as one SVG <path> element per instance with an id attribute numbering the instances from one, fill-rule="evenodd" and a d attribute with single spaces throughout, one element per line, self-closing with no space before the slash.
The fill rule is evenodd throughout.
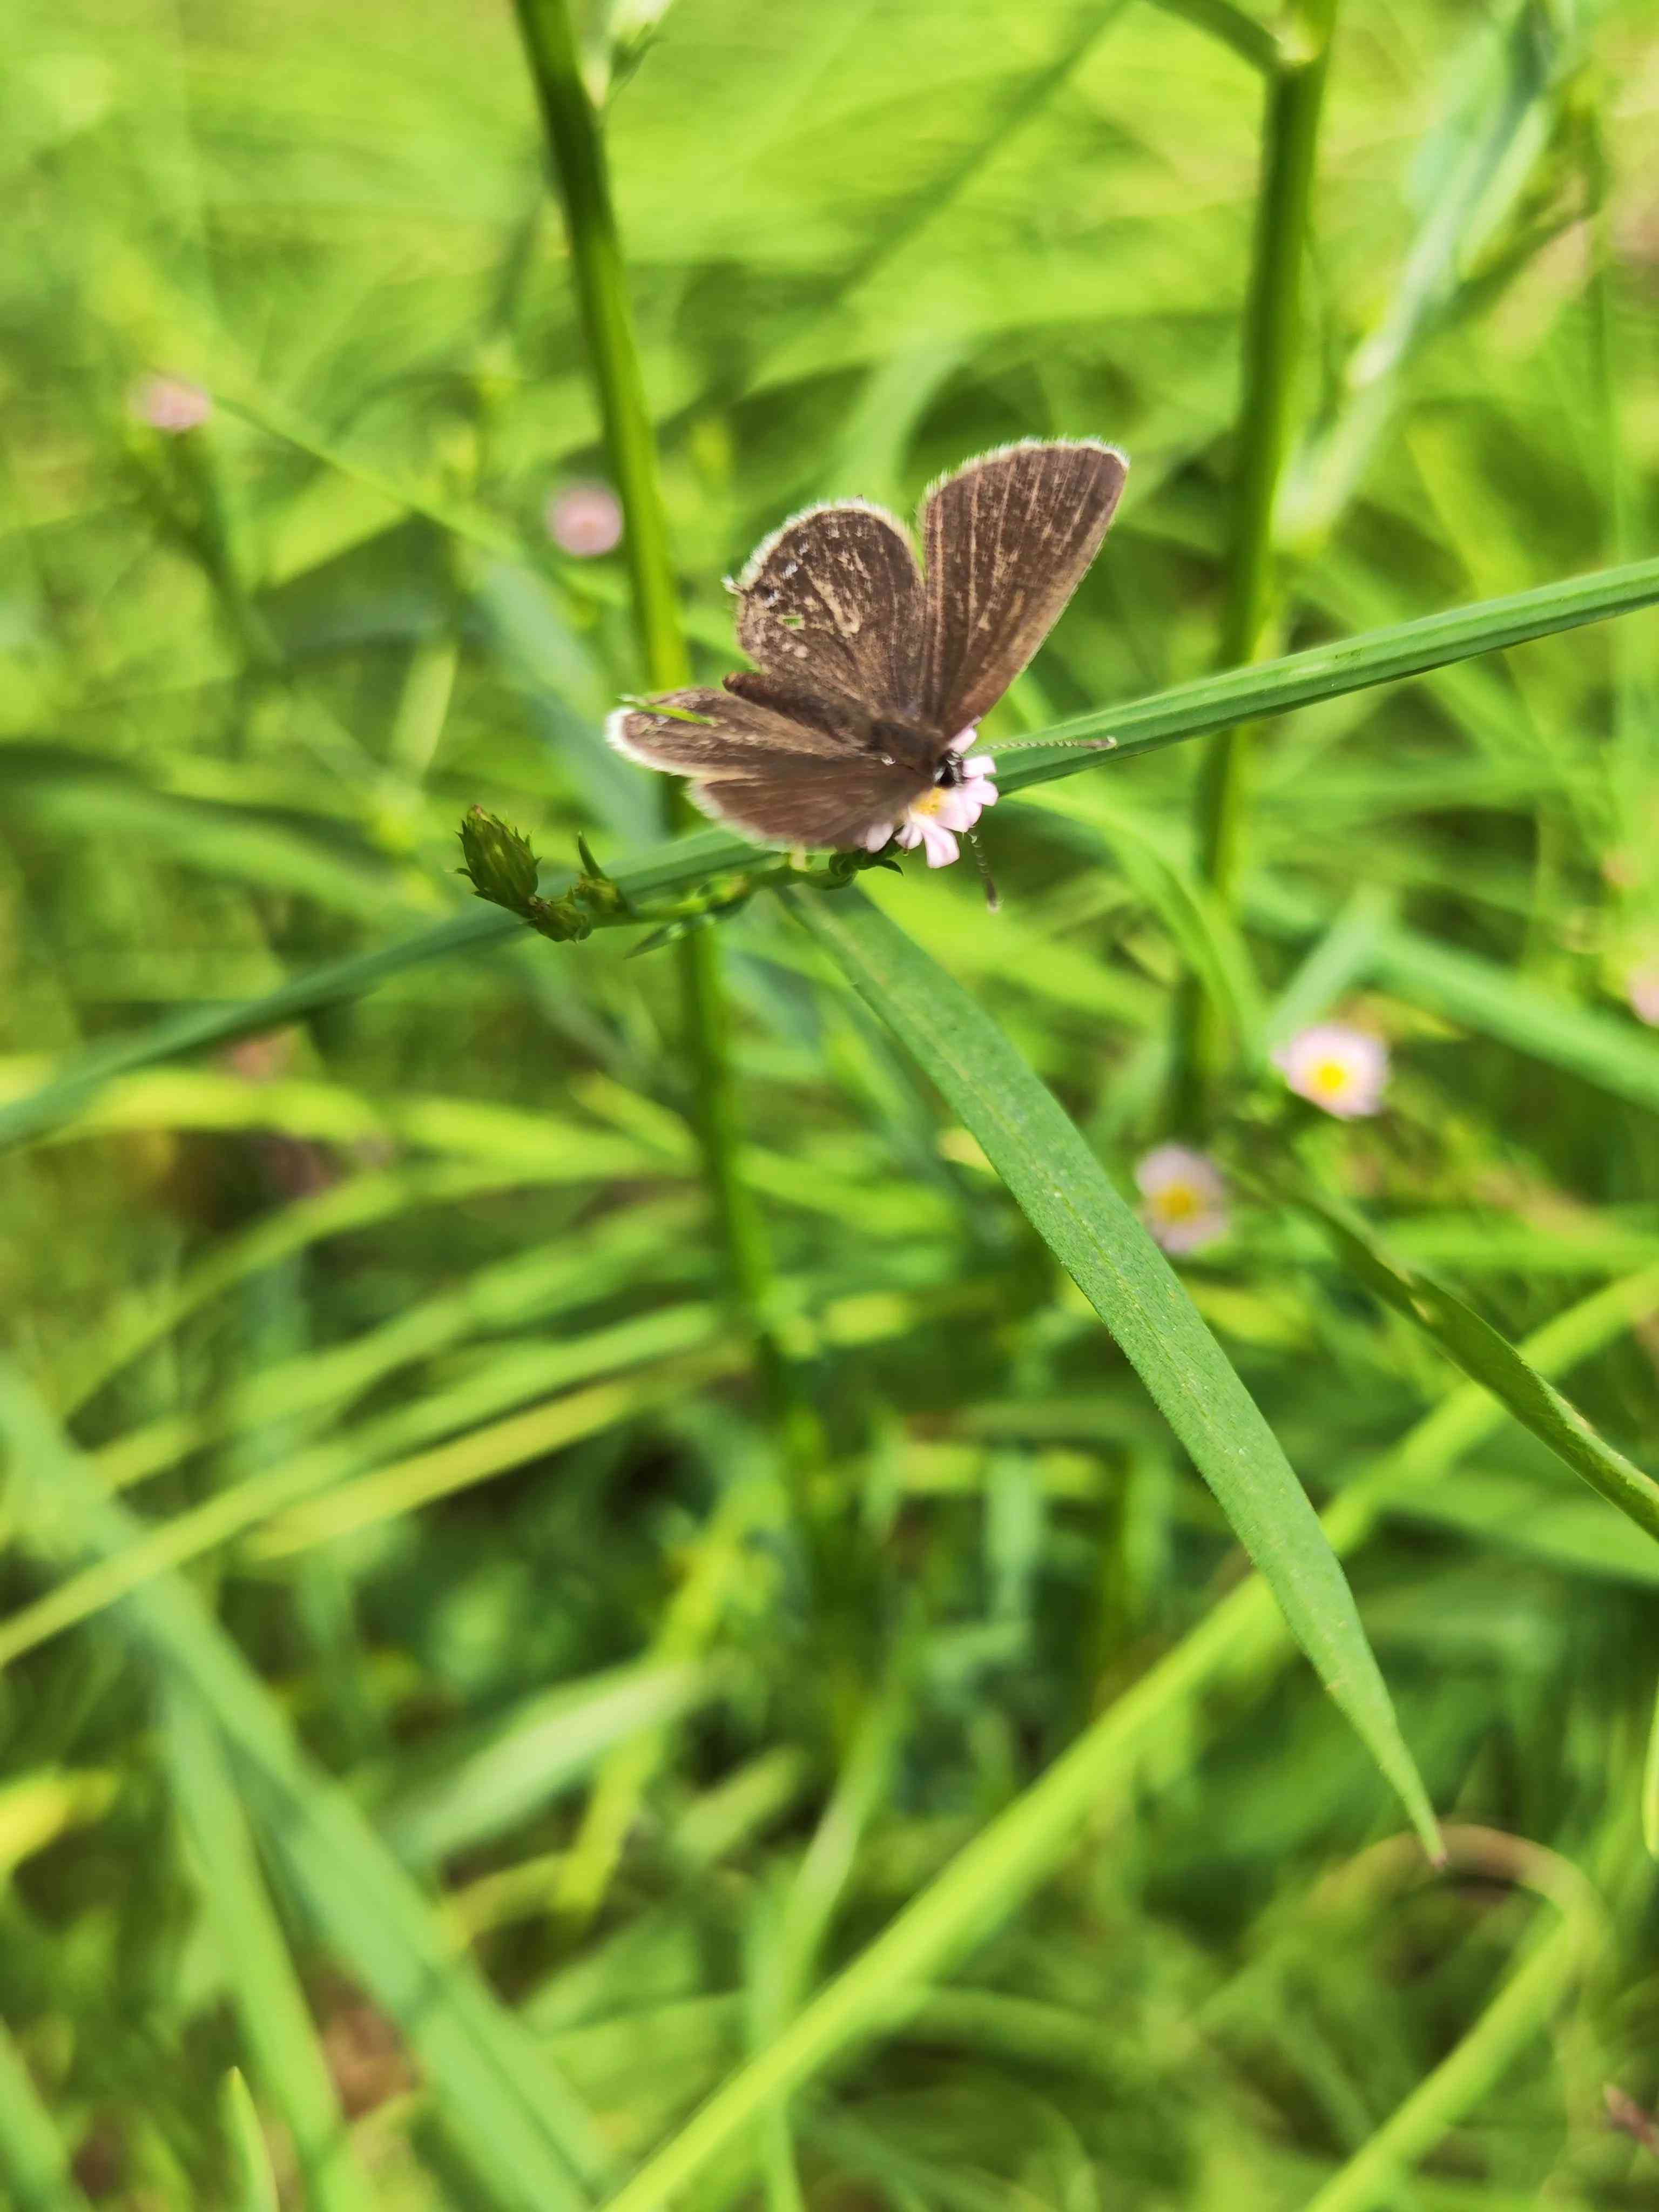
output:
<path id="1" fill-rule="evenodd" d="M 922 577 L 880 507 L 810 507 L 739 580 L 737 641 L 768 675 L 907 719 L 922 697 Z"/>

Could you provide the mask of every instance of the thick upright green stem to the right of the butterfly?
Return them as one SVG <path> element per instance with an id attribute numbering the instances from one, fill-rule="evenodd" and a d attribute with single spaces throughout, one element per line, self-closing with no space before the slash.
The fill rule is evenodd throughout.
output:
<path id="1" fill-rule="evenodd" d="M 1237 668 L 1267 648 L 1272 613 L 1272 524 L 1290 445 L 1290 403 L 1301 354 L 1301 292 L 1314 190 L 1318 117 L 1336 0 L 1307 0 L 1267 77 L 1256 234 L 1243 332 L 1243 389 L 1234 438 L 1234 500 L 1228 544 L 1228 597 L 1219 666 Z M 1250 796 L 1254 728 L 1223 730 L 1197 785 L 1199 872 L 1223 902 L 1237 902 L 1243 823 Z M 1206 1117 L 1221 1060 L 1221 1037 L 1203 984 L 1188 975 L 1175 1009 L 1175 1113 L 1188 1130 Z"/>

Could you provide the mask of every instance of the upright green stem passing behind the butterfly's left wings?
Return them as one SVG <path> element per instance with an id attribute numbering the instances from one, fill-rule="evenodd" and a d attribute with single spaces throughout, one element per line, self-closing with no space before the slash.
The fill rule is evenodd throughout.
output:
<path id="1" fill-rule="evenodd" d="M 566 0 L 515 0 L 515 9 L 564 201 L 588 365 L 626 518 L 624 549 L 646 679 L 653 690 L 675 690 L 690 681 L 690 659 L 599 122 L 582 82 Z M 681 787 L 664 785 L 664 827 L 670 832 L 688 827 L 695 816 L 686 807 Z M 785 1429 L 799 1436 L 803 1411 L 794 1407 L 790 1369 L 772 1327 L 772 1256 L 765 1223 L 739 1172 L 739 1119 L 719 945 L 712 931 L 697 929 L 675 947 L 675 958 L 703 1175 L 726 1245 L 732 1298 L 754 1338 L 772 1407 Z"/>

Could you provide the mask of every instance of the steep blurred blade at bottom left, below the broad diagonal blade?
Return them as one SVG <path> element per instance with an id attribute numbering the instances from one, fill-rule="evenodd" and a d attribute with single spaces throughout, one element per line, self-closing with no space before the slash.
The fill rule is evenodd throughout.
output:
<path id="1" fill-rule="evenodd" d="M 164 1723 L 168 1778 L 199 1869 L 201 1907 L 246 2048 L 294 2137 L 307 2203 L 316 2212 L 369 2212 L 374 2194 L 352 2157 L 345 2117 L 259 1871 L 223 1745 L 188 1690 L 168 1692 Z"/>

